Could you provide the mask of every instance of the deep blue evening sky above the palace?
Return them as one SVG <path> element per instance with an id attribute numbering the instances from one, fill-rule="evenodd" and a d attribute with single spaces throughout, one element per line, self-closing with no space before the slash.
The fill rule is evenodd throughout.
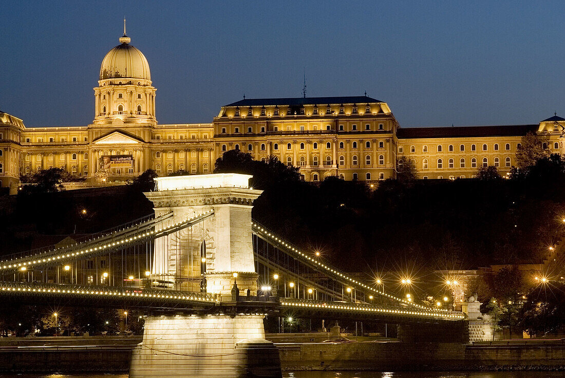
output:
<path id="1" fill-rule="evenodd" d="M 93 119 L 102 58 L 128 19 L 159 123 L 247 98 L 362 95 L 402 127 L 565 115 L 563 1 L 9 1 L 0 109 L 30 126 Z"/>

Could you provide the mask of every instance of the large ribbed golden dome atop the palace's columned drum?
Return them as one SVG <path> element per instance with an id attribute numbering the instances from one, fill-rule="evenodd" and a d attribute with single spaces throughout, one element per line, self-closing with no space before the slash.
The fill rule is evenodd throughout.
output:
<path id="1" fill-rule="evenodd" d="M 145 55 L 129 44 L 127 36 L 120 38 L 121 44 L 108 51 L 100 66 L 100 80 L 144 79 L 151 80 L 149 63 Z"/>

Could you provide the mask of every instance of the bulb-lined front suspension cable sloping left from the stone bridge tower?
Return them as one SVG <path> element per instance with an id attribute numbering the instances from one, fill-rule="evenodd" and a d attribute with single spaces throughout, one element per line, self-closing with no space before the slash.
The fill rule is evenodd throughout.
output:
<path id="1" fill-rule="evenodd" d="M 32 264 L 49 263 L 49 262 L 53 262 L 55 260 L 62 260 L 62 259 L 66 259 L 66 258 L 78 257 L 78 256 L 81 256 L 81 255 L 84 255 L 84 254 L 89 254 L 91 252 L 97 252 L 97 251 L 105 250 L 105 249 L 108 249 L 108 248 L 111 248 L 111 247 L 120 246 L 120 245 L 123 245 L 125 243 L 131 242 L 131 241 L 134 241 L 134 240 L 138 240 L 138 239 L 141 239 L 141 238 L 144 238 L 144 237 L 147 237 L 147 236 L 167 232 L 171 229 L 179 227 L 182 224 L 191 223 L 192 221 L 197 220 L 197 219 L 206 218 L 207 216 L 210 216 L 213 212 L 214 212 L 214 210 L 208 210 L 208 211 L 203 212 L 199 215 L 195 215 L 192 218 L 186 218 L 185 220 L 173 223 L 173 224 L 169 225 L 168 227 L 163 227 L 163 228 L 156 229 L 156 230 L 153 230 L 153 231 L 147 231 L 145 233 L 142 233 L 142 234 L 139 234 L 139 235 L 136 235 L 136 236 L 133 236 L 133 237 L 129 237 L 129 238 L 126 237 L 126 238 L 123 238 L 123 239 L 115 241 L 115 242 L 111 242 L 111 243 L 104 244 L 104 245 L 101 245 L 101 246 L 96 246 L 96 247 L 93 247 L 93 248 L 90 248 L 90 249 L 87 248 L 87 249 L 84 249 L 84 250 L 81 250 L 81 251 L 76 251 L 76 252 L 73 252 L 73 253 L 67 253 L 67 254 L 63 253 L 63 254 L 56 255 L 56 256 L 53 256 L 53 257 L 49 257 L 49 258 L 43 258 L 43 259 L 40 258 L 40 259 L 35 259 L 35 260 L 32 260 L 32 261 L 21 262 L 21 263 L 16 263 L 16 262 L 18 260 L 21 261 L 23 259 L 29 259 L 30 257 L 13 259 L 13 260 L 10 260 L 10 261 L 12 261 L 14 263 L 5 264 L 3 266 L 0 266 L 0 269 L 19 268 L 19 270 L 25 271 Z M 136 226 L 133 226 L 131 228 L 134 228 L 134 227 L 136 227 Z M 124 231 L 125 230 L 127 230 L 127 229 L 124 229 Z M 77 244 L 76 246 L 79 246 L 79 245 L 80 244 Z M 49 254 L 49 252 L 47 252 L 45 254 Z"/>

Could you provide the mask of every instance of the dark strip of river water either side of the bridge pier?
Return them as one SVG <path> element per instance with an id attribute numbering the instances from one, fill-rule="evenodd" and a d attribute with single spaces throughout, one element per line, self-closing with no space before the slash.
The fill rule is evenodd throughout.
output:
<path id="1" fill-rule="evenodd" d="M 496 371 L 496 372 L 284 372 L 284 378 L 565 378 L 563 372 Z M 127 374 L 18 374 L 1 375 L 2 378 L 128 378 Z"/>

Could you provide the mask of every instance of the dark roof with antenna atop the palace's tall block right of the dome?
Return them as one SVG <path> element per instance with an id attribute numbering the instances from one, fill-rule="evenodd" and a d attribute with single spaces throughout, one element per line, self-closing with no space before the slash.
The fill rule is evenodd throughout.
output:
<path id="1" fill-rule="evenodd" d="M 273 106 L 273 105 L 328 105 L 383 102 L 367 96 L 342 96 L 342 97 L 289 97 L 289 98 L 246 98 L 224 106 Z"/>

